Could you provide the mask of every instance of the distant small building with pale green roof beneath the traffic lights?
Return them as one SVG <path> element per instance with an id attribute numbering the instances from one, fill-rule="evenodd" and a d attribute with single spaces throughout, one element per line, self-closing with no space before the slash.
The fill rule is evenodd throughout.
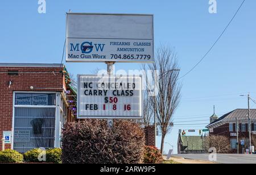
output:
<path id="1" fill-rule="evenodd" d="M 182 136 L 181 133 L 179 133 L 177 152 L 179 154 L 205 153 L 202 136 Z"/>

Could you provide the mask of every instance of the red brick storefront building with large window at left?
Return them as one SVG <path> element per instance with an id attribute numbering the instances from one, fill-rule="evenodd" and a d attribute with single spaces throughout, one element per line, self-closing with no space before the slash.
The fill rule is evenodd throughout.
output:
<path id="1" fill-rule="evenodd" d="M 0 64 L 0 138 L 11 132 L 6 149 L 60 147 L 61 127 L 75 120 L 70 82 L 64 65 Z"/>

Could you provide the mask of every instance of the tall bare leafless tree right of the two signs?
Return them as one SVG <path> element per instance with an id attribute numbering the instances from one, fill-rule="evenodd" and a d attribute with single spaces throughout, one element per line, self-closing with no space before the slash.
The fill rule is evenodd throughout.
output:
<path id="1" fill-rule="evenodd" d="M 155 77 L 155 88 L 158 88 L 158 94 L 152 95 L 150 102 L 155 113 L 156 122 L 162 133 L 160 151 L 163 153 L 164 138 L 171 131 L 170 123 L 179 105 L 181 96 L 179 71 L 174 71 L 179 68 L 176 52 L 168 47 L 160 47 L 156 52 L 155 62 L 149 64 L 148 68 L 152 72 L 152 77 Z M 155 71 L 159 73 L 157 78 Z"/>

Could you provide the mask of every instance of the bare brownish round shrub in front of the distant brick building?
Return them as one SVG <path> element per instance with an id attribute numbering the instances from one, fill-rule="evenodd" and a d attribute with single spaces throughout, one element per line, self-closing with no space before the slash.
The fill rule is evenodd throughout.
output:
<path id="1" fill-rule="evenodd" d="M 229 138 L 221 135 L 210 135 L 204 138 L 203 149 L 216 148 L 217 153 L 229 153 L 231 150 Z"/>

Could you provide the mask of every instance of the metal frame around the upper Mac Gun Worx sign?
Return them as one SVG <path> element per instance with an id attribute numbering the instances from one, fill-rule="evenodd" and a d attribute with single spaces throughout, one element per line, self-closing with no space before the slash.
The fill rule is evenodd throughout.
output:
<path id="1" fill-rule="evenodd" d="M 77 59 L 77 60 L 69 60 L 68 57 L 67 57 L 67 54 L 68 54 L 68 15 L 69 14 L 74 14 L 74 15 L 127 15 L 127 16 L 136 16 L 136 15 L 139 15 L 139 16 L 152 16 L 152 60 L 151 61 L 127 61 L 127 60 L 112 60 L 110 58 L 107 58 L 106 60 L 83 60 L 83 59 Z M 90 38 L 84 38 L 84 39 L 90 39 Z M 131 40 L 135 40 L 135 39 L 131 39 Z M 144 39 L 146 40 L 146 39 Z M 65 60 L 66 62 L 106 62 L 106 61 L 114 61 L 114 62 L 138 62 L 138 63 L 152 63 L 154 62 L 155 60 L 155 43 L 154 43 L 154 14 L 114 14 L 114 13 L 82 13 L 82 12 L 67 12 L 66 13 L 66 40 L 65 40 L 65 45 L 66 45 L 66 49 L 65 49 Z"/>

